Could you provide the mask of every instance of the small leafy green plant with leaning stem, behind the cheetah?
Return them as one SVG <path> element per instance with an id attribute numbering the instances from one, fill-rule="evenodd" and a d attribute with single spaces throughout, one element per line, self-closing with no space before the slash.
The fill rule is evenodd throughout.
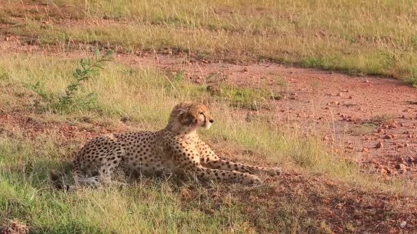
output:
<path id="1" fill-rule="evenodd" d="M 45 90 L 45 83 L 37 81 L 34 84 L 25 83 L 25 86 L 36 92 L 42 100 L 47 103 L 47 109 L 55 109 L 60 112 L 64 110 L 88 107 L 97 101 L 95 93 L 89 93 L 85 96 L 79 96 L 78 91 L 84 88 L 83 83 L 98 75 L 99 70 L 104 69 L 106 62 L 112 61 L 112 51 L 108 51 L 102 56 L 100 51 L 95 50 L 95 57 L 84 57 L 80 60 L 80 68 L 76 68 L 73 73 L 74 81 L 67 86 L 64 94 L 52 94 Z M 40 101 L 35 101 L 36 106 L 40 106 Z"/>

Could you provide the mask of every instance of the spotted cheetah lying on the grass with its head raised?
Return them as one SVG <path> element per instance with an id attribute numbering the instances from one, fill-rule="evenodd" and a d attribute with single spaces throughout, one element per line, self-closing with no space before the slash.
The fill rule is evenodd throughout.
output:
<path id="1" fill-rule="evenodd" d="M 113 133 L 93 138 L 73 161 L 76 181 L 88 185 L 114 183 L 112 174 L 116 168 L 130 175 L 191 172 L 204 180 L 246 184 L 261 181 L 253 173 L 263 171 L 271 176 L 281 173 L 281 168 L 220 159 L 197 133 L 199 128 L 209 129 L 213 122 L 206 105 L 183 102 L 172 109 L 166 127 L 160 131 Z M 88 174 L 96 176 L 88 177 Z"/>

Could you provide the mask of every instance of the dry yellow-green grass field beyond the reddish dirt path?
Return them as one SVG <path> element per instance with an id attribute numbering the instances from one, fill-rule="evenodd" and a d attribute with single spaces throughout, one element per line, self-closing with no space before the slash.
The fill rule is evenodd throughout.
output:
<path id="1" fill-rule="evenodd" d="M 128 53 L 185 51 L 237 62 L 266 58 L 417 82 L 417 3 L 411 0 L 29 2 L 47 10 L 5 4 L 0 18 L 14 25 L 5 31 L 42 44 L 99 43 Z"/>

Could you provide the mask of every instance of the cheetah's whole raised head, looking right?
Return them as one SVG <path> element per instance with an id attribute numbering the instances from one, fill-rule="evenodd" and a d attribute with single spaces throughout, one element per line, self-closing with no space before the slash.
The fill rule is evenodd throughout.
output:
<path id="1" fill-rule="evenodd" d="M 176 122 L 176 125 L 180 125 L 180 129 L 190 130 L 198 127 L 209 129 L 214 122 L 206 105 L 191 102 L 176 105 L 170 116 L 170 122 L 173 120 Z"/>

